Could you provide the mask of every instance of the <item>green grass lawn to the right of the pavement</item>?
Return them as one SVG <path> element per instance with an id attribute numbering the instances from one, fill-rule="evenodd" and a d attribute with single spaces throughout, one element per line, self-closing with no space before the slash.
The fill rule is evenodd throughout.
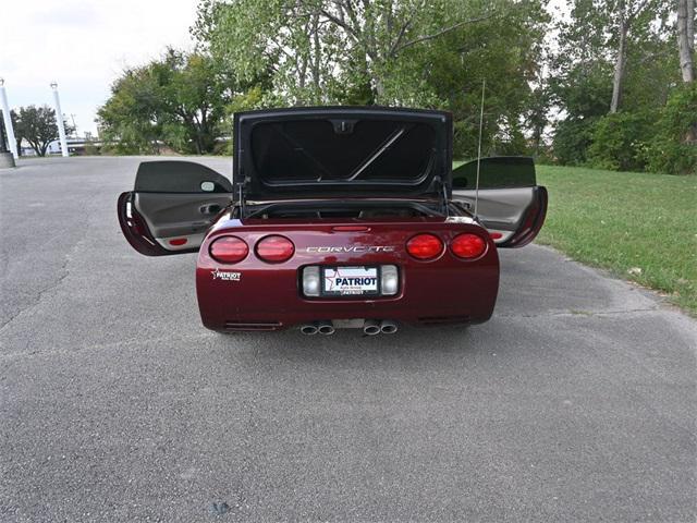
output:
<path id="1" fill-rule="evenodd" d="M 539 166 L 537 242 L 665 293 L 697 316 L 697 177 Z"/>

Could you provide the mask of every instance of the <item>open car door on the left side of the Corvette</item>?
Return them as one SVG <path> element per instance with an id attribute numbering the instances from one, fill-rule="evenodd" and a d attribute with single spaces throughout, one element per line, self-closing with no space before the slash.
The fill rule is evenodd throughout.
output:
<path id="1" fill-rule="evenodd" d="M 232 193 L 230 180 L 200 163 L 144 161 L 134 190 L 119 196 L 119 223 L 131 246 L 146 256 L 193 253 Z"/>

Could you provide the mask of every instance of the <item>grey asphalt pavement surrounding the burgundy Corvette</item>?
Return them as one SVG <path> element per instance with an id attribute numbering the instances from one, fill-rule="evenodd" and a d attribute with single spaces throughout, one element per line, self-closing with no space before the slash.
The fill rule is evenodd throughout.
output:
<path id="1" fill-rule="evenodd" d="M 481 326 L 209 332 L 195 255 L 121 235 L 138 161 L 0 170 L 0 521 L 697 519 L 697 323 L 660 296 L 531 245 Z"/>

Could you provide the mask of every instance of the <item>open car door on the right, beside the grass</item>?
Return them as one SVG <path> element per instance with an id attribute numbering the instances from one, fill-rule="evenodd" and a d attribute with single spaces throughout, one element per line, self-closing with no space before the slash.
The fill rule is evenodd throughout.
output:
<path id="1" fill-rule="evenodd" d="M 475 211 L 477 160 L 453 170 L 453 199 Z M 537 185 L 533 158 L 481 158 L 477 215 L 499 247 L 530 243 L 545 223 L 547 188 Z"/>

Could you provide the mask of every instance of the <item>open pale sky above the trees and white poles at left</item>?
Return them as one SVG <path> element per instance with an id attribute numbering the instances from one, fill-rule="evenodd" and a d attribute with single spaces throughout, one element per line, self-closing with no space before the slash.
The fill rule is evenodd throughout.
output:
<path id="1" fill-rule="evenodd" d="M 197 0 L 0 0 L 0 77 L 11 108 L 48 104 L 77 132 L 96 133 L 96 111 L 126 66 L 166 47 L 191 49 Z"/>

